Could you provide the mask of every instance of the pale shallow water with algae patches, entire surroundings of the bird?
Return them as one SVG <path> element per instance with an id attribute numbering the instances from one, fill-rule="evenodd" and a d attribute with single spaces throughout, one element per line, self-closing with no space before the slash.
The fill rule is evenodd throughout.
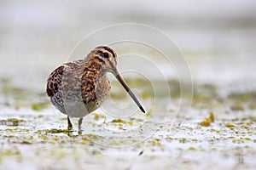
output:
<path id="1" fill-rule="evenodd" d="M 2 1 L 0 169 L 253 169 L 255 7 L 252 0 Z M 124 22 L 154 26 L 175 42 L 123 27 L 73 50 L 91 32 Z M 111 99 L 84 118 L 83 134 L 77 135 L 77 120 L 68 132 L 66 116 L 44 94 L 50 71 L 119 37 L 145 40 L 112 47 L 148 113 L 113 81 Z"/>

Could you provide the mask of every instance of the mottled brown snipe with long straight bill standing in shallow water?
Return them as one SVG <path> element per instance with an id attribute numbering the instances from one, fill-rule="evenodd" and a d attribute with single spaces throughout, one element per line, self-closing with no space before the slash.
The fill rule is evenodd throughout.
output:
<path id="1" fill-rule="evenodd" d="M 67 115 L 67 129 L 72 130 L 70 118 L 79 118 L 78 133 L 82 133 L 84 116 L 98 109 L 110 94 L 110 72 L 130 94 L 139 109 L 143 106 L 117 70 L 117 54 L 108 46 L 99 46 L 84 59 L 74 60 L 57 67 L 47 79 L 46 94 L 52 105 Z"/>

